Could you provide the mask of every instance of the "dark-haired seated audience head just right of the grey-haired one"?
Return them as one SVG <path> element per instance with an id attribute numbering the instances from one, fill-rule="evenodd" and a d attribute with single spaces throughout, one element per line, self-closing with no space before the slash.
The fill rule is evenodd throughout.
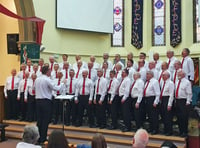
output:
<path id="1" fill-rule="evenodd" d="M 65 138 L 64 132 L 61 130 L 54 130 L 48 140 L 48 148 L 68 148 L 68 141 Z"/>

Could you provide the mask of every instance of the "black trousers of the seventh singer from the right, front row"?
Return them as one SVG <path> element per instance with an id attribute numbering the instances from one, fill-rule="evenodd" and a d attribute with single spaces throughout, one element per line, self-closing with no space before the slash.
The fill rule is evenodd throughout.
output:
<path id="1" fill-rule="evenodd" d="M 102 104 L 99 104 L 99 100 L 101 98 L 101 95 L 96 95 L 96 118 L 97 118 L 97 125 L 99 126 L 106 126 L 106 101 L 104 100 Z"/>

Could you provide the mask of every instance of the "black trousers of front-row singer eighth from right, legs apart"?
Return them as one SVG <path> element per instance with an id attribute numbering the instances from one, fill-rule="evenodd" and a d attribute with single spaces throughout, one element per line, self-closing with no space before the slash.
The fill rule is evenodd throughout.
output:
<path id="1" fill-rule="evenodd" d="M 87 116 L 89 125 L 94 124 L 94 117 L 92 112 L 92 104 L 89 105 L 89 95 L 80 95 L 78 97 L 79 103 L 78 103 L 78 124 L 82 125 L 83 123 L 83 115 L 85 109 L 87 110 Z"/>

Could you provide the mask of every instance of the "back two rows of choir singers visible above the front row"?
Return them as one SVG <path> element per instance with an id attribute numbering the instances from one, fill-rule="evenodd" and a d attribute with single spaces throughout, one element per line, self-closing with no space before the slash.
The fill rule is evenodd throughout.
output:
<path id="1" fill-rule="evenodd" d="M 184 48 L 182 51 L 183 58 L 182 58 L 182 60 L 180 60 L 180 63 L 179 63 L 180 65 L 178 68 L 182 68 L 186 73 L 186 78 L 193 81 L 194 80 L 194 64 L 193 64 L 193 61 L 190 58 L 189 54 L 190 54 L 190 50 L 188 48 Z M 171 79 L 173 80 L 173 77 L 176 73 L 175 72 L 176 71 L 175 63 L 177 63 L 178 61 L 177 61 L 177 58 L 174 56 L 173 51 L 167 51 L 166 56 L 167 56 L 167 61 L 166 61 L 167 69 L 169 70 Z M 49 68 L 51 69 L 51 71 L 52 71 L 51 78 L 52 79 L 57 77 L 56 73 L 58 71 L 62 71 L 63 79 L 67 79 L 68 75 L 69 75 L 69 70 L 72 68 L 75 70 L 75 77 L 79 78 L 81 76 L 82 69 L 87 68 L 87 69 L 89 69 L 89 77 L 93 77 L 92 79 L 94 82 L 96 80 L 96 74 L 93 71 L 96 70 L 97 68 L 103 68 L 103 70 L 104 70 L 103 76 L 106 78 L 109 78 L 110 70 L 115 70 L 117 75 L 119 73 L 119 77 L 120 77 L 121 70 L 126 68 L 126 69 L 130 70 L 129 76 L 131 79 L 132 79 L 132 74 L 135 71 L 138 71 L 141 73 L 141 75 L 142 75 L 141 77 L 143 80 L 145 80 L 144 71 L 146 71 L 146 70 L 154 71 L 154 76 L 156 79 L 161 78 L 160 77 L 161 72 L 163 71 L 163 68 L 162 68 L 163 62 L 159 60 L 158 53 L 154 53 L 153 61 L 148 62 L 146 60 L 146 54 L 141 52 L 138 63 L 136 63 L 133 60 L 133 54 L 129 53 L 127 55 L 126 67 L 121 62 L 121 57 L 119 54 L 115 55 L 115 60 L 114 60 L 115 62 L 113 64 L 109 60 L 109 55 L 107 53 L 105 53 L 103 55 L 103 63 L 101 65 L 95 61 L 94 56 L 91 56 L 90 61 L 88 62 L 88 64 L 86 64 L 86 62 L 81 61 L 81 57 L 79 55 L 77 55 L 77 56 L 75 56 L 76 62 L 72 65 L 67 61 L 68 56 L 66 54 L 64 54 L 62 57 L 63 57 L 63 62 L 61 62 L 61 63 L 56 63 L 54 57 L 50 56 L 49 63 L 44 64 L 44 60 L 39 59 L 39 65 L 34 64 L 33 66 L 31 64 L 31 60 L 29 59 L 27 61 L 27 65 L 25 65 L 25 64 L 21 65 L 21 72 L 18 74 L 18 76 L 20 79 L 24 78 L 25 71 L 29 71 L 30 73 L 36 73 L 37 76 L 40 76 L 41 68 L 44 65 L 49 66 Z M 92 75 L 92 76 L 90 76 L 90 75 Z M 30 74 L 30 76 L 31 76 L 31 74 Z"/>

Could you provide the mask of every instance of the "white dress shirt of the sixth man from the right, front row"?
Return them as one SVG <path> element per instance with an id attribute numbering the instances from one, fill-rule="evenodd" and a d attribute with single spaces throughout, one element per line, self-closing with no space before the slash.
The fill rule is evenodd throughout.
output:
<path id="1" fill-rule="evenodd" d="M 111 80 L 110 80 L 111 81 Z M 109 85 L 110 85 L 110 81 L 108 84 L 108 89 L 109 89 Z M 112 79 L 111 85 L 110 85 L 110 89 L 108 90 L 108 93 L 111 94 L 110 100 L 113 101 L 114 97 L 116 94 L 118 94 L 117 90 L 119 87 L 119 81 L 116 78 Z"/>

